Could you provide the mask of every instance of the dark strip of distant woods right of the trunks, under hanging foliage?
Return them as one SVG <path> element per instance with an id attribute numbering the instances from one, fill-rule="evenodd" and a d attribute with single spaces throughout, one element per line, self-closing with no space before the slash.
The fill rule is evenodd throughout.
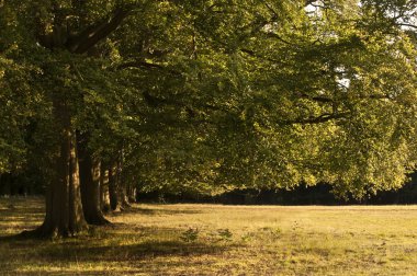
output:
<path id="1" fill-rule="evenodd" d="M 164 192 L 138 193 L 138 202 L 145 203 L 211 203 L 230 205 L 392 205 L 417 204 L 417 174 L 398 191 L 380 192 L 362 200 L 337 198 L 331 185 L 298 186 L 286 189 L 235 189 L 218 196 L 192 193 L 169 194 Z"/>

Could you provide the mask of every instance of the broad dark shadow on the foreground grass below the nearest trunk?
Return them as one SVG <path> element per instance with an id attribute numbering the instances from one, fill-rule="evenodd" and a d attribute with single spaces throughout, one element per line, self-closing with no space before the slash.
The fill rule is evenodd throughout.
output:
<path id="1" fill-rule="evenodd" d="M 135 268 L 132 262 L 153 264 L 155 260 L 165 262 L 166 258 L 170 260 L 169 265 L 181 258 L 183 265 L 188 257 L 216 255 L 230 249 L 227 244 L 210 243 L 203 239 L 194 242 L 181 241 L 181 232 L 169 228 L 142 228 L 137 232 L 129 232 L 123 226 L 113 226 L 97 231 L 93 235 L 53 242 L 4 239 L 0 241 L 0 274 L 20 273 L 27 267 L 34 267 L 38 275 L 45 275 L 53 274 L 56 267 L 82 269 L 100 263 L 112 264 L 112 267 L 128 264 L 128 267 L 132 265 Z M 100 265 L 97 273 L 100 274 Z M 71 275 L 76 274 L 77 271 L 74 271 Z"/>

